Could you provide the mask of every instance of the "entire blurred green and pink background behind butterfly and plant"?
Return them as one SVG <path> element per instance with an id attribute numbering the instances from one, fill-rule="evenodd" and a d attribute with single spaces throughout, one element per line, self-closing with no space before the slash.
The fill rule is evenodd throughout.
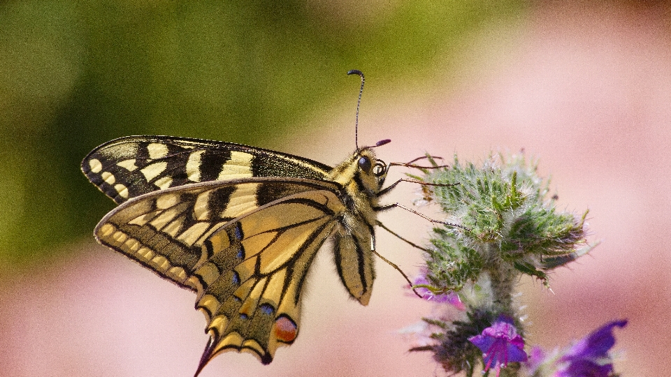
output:
<path id="1" fill-rule="evenodd" d="M 589 256 L 521 281 L 528 344 L 603 323 L 623 376 L 671 349 L 671 8 L 664 1 L 0 1 L 0 376 L 192 376 L 205 347 L 194 295 L 98 246 L 113 202 L 79 170 L 123 135 L 242 142 L 333 165 L 359 142 L 384 161 L 481 161 L 524 149 L 562 208 L 590 209 Z M 405 171 L 392 170 L 389 180 Z M 410 205 L 417 188 L 390 202 Z M 431 213 L 433 209 L 424 209 Z M 416 242 L 429 223 L 382 216 Z M 421 253 L 380 232 L 408 274 Z M 273 364 L 226 353 L 201 376 L 433 376 L 399 329 L 431 313 L 377 263 L 347 299 L 328 250 L 301 337 Z"/>

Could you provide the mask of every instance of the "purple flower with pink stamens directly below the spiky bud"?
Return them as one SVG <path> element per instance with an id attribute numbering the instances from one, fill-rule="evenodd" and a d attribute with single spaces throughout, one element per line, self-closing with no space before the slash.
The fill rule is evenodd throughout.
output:
<path id="1" fill-rule="evenodd" d="M 470 337 L 468 340 L 482 350 L 484 370 L 496 369 L 496 377 L 501 367 L 507 367 L 509 362 L 526 362 L 524 339 L 517 334 L 513 320 L 507 316 L 499 318 L 490 327 L 482 330 L 482 334 Z"/>

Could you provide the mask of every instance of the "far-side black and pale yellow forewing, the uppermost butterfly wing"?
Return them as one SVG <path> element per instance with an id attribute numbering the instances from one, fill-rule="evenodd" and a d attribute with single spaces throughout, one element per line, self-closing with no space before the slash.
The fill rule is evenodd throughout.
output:
<path id="1" fill-rule="evenodd" d="M 168 136 L 106 142 L 82 161 L 88 179 L 117 204 L 165 188 L 250 177 L 324 179 L 331 168 L 277 151 Z"/>

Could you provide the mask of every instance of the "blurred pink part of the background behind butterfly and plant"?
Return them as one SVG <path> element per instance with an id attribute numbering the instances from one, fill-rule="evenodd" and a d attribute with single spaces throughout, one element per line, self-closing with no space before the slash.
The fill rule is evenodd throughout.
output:
<path id="1" fill-rule="evenodd" d="M 361 144 L 391 138 L 378 150 L 387 162 L 425 151 L 480 161 L 492 149 L 521 148 L 540 158 L 560 207 L 589 208 L 591 241 L 602 244 L 551 276 L 554 293 L 521 280 L 527 341 L 564 346 L 628 318 L 616 330 L 623 376 L 664 375 L 671 349 L 671 22 L 655 9 L 539 3 L 516 27 L 469 36 L 456 71 L 449 65 L 426 87 L 368 77 L 359 134 Z M 325 125 L 307 140 L 289 135 L 261 147 L 329 164 L 352 151 L 352 98 L 312 122 Z M 389 202 L 410 204 L 414 192 L 402 186 Z M 382 221 L 417 242 L 431 228 L 403 211 Z M 92 240 L 72 248 L 76 258 L 18 272 L 0 290 L 0 376 L 191 376 L 207 341 L 194 295 Z M 382 230 L 378 249 L 417 272 L 420 253 Z M 384 263 L 370 305 L 349 301 L 329 251 L 320 254 L 294 346 L 267 367 L 226 353 L 201 376 L 442 375 L 430 355 L 408 353 L 398 333 L 431 304 L 407 297 Z"/>

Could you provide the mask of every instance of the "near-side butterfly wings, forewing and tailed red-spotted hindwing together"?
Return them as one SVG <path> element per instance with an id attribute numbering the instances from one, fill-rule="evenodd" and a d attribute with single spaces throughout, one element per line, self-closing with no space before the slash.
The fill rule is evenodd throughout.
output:
<path id="1" fill-rule="evenodd" d="M 337 193 L 332 182 L 286 178 L 169 188 L 117 207 L 96 237 L 196 291 L 210 334 L 199 371 L 225 350 L 250 351 L 268 364 L 278 346 L 296 339 L 315 253 L 342 231 Z"/>

